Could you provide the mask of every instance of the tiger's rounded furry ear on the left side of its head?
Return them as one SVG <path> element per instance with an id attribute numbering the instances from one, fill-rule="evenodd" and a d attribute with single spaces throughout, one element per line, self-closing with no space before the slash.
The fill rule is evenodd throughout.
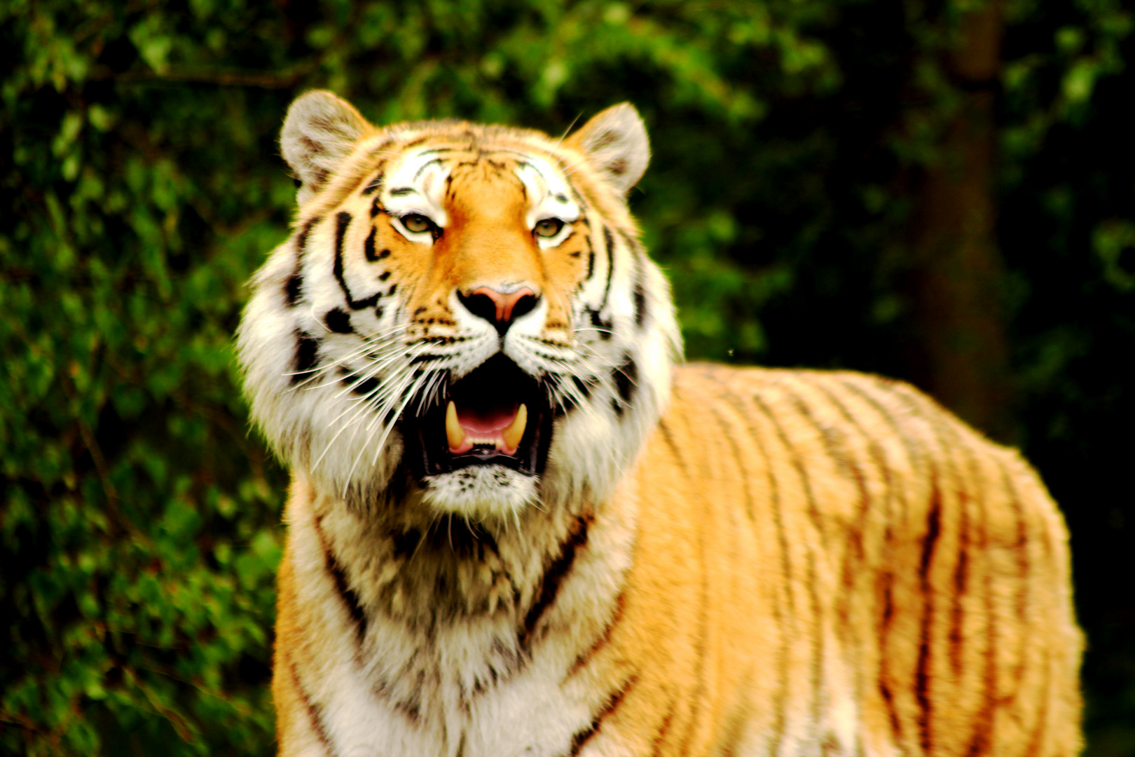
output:
<path id="1" fill-rule="evenodd" d="M 280 131 L 280 150 L 301 183 L 301 205 L 327 183 L 344 158 L 370 128 L 367 119 L 342 98 L 313 90 L 296 98 Z"/>

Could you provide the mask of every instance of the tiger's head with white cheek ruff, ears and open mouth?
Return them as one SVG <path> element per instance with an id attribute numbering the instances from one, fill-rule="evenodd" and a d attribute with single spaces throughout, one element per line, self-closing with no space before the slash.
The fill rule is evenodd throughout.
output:
<path id="1" fill-rule="evenodd" d="M 348 501 L 477 520 L 607 496 L 680 353 L 625 203 L 649 159 L 634 109 L 554 140 L 378 128 L 317 91 L 280 144 L 296 219 L 253 278 L 238 351 L 293 470 Z"/>

